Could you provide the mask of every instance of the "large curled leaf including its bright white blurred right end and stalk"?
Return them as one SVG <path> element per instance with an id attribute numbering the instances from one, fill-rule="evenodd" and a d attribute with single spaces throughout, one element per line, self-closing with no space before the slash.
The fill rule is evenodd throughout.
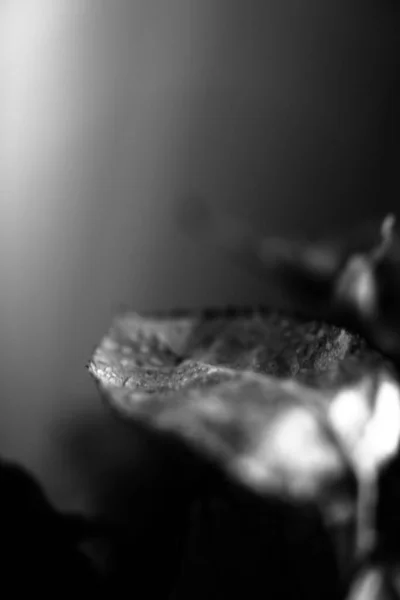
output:
<path id="1" fill-rule="evenodd" d="M 270 375 L 283 349 L 289 368 L 272 367 Z M 119 414 L 181 440 L 254 493 L 312 501 L 327 522 L 349 520 L 357 477 L 365 491 L 364 532 L 374 527 L 377 472 L 399 438 L 398 388 L 382 367 L 350 334 L 275 313 L 176 319 L 126 313 L 115 319 L 89 370 Z M 382 434 L 386 446 L 378 444 Z"/>

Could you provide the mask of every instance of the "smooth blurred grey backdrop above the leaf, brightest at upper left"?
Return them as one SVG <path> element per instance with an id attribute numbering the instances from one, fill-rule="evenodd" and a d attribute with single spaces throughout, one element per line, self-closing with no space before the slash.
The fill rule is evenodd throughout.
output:
<path id="1" fill-rule="evenodd" d="M 0 452 L 59 506 L 138 460 L 85 370 L 120 306 L 268 300 L 177 199 L 266 233 L 397 210 L 398 25 L 389 0 L 2 0 Z"/>

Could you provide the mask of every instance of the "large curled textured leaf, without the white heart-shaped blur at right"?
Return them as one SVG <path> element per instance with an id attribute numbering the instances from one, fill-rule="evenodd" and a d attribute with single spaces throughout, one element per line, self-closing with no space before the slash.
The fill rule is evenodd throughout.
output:
<path id="1" fill-rule="evenodd" d="M 254 489 L 309 497 L 346 471 L 321 418 L 338 390 L 364 385 L 366 361 L 382 363 L 344 329 L 274 312 L 125 313 L 89 370 L 123 416 Z"/>

